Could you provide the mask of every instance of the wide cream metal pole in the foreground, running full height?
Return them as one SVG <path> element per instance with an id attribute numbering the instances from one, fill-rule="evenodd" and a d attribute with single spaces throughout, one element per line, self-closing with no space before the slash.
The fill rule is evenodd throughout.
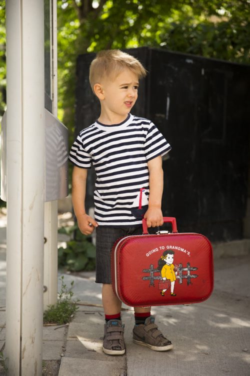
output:
<path id="1" fill-rule="evenodd" d="M 44 214 L 42 0 L 6 1 L 8 374 L 41 375 Z"/>

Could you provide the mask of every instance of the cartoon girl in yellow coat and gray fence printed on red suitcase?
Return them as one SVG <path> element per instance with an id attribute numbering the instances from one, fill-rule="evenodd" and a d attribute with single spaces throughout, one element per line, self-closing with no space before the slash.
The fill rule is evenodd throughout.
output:
<path id="1" fill-rule="evenodd" d="M 160 290 L 161 296 L 165 295 L 166 290 L 170 287 L 170 296 L 176 296 L 174 292 L 174 284 L 176 279 L 178 279 L 179 284 L 182 283 L 182 279 L 187 279 L 187 285 L 191 283 L 191 278 L 197 278 L 197 274 L 191 274 L 192 270 L 197 270 L 197 267 L 191 267 L 190 263 L 187 262 L 186 267 L 182 266 L 182 263 L 173 264 L 174 250 L 170 247 L 165 250 L 160 258 L 158 259 L 157 268 L 154 268 L 153 264 L 150 264 L 148 269 L 143 269 L 144 273 L 150 273 L 150 276 L 143 276 L 143 280 L 150 280 L 149 286 L 154 286 L 154 280 L 158 280 L 158 289 Z M 175 247 L 180 248 L 180 247 Z M 158 249 L 158 248 L 157 248 Z M 180 248 L 181 250 L 183 248 Z M 189 253 L 189 252 L 188 252 Z M 149 255 L 150 252 L 147 253 Z M 187 272 L 183 274 L 183 271 Z M 160 275 L 154 275 L 154 274 Z"/>

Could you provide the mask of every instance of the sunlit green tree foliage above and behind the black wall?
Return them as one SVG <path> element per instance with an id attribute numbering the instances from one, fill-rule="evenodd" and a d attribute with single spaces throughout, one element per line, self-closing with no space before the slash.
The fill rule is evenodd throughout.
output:
<path id="1" fill-rule="evenodd" d="M 250 0 L 58 0 L 58 116 L 72 137 L 75 62 L 138 46 L 249 63 Z M 5 109 L 5 2 L 0 0 L 0 116 Z"/>

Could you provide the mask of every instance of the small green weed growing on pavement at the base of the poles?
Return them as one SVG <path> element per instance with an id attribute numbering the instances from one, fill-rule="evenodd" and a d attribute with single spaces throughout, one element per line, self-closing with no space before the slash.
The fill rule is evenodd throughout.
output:
<path id="1" fill-rule="evenodd" d="M 69 290 L 64 282 L 64 276 L 60 277 L 61 289 L 58 292 L 58 301 L 56 304 L 48 305 L 48 309 L 43 312 L 43 323 L 65 324 L 71 321 L 76 313 L 78 306 L 76 300 L 72 300 L 73 291 Z M 71 288 L 74 281 L 71 281 Z"/>

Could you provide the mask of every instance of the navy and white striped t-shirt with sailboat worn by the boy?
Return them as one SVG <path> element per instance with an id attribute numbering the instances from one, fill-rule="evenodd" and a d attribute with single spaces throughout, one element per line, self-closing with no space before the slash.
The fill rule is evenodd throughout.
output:
<path id="1" fill-rule="evenodd" d="M 90 168 L 91 163 L 94 166 L 94 217 L 99 225 L 141 223 L 133 209 L 139 206 L 139 196 L 142 208 L 147 205 L 147 162 L 170 148 L 150 120 L 131 114 L 119 124 L 104 125 L 96 120 L 80 131 L 69 159 L 77 167 Z"/>

